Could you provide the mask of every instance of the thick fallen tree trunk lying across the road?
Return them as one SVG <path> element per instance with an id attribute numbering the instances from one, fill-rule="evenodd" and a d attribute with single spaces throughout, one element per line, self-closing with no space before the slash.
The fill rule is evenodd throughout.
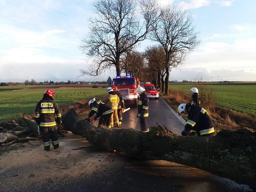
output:
<path id="1" fill-rule="evenodd" d="M 74 109 L 62 115 L 65 130 L 96 148 L 142 160 L 166 160 L 199 168 L 256 189 L 256 132 L 221 131 L 213 137 L 178 136 L 162 126 L 150 132 L 107 129 L 81 119 Z"/>

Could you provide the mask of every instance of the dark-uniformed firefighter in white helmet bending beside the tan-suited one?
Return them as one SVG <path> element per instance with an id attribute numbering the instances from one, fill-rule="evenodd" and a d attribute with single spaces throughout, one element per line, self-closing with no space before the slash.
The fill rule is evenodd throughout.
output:
<path id="1" fill-rule="evenodd" d="M 104 125 L 107 128 L 111 128 L 110 125 L 110 117 L 113 114 L 112 107 L 106 105 L 101 100 L 98 101 L 97 99 L 93 98 L 88 102 L 89 107 L 92 108 L 88 116 L 85 118 L 85 120 L 89 121 L 90 118 L 96 113 L 96 116 L 94 116 L 94 120 L 99 119 L 99 125 Z"/>

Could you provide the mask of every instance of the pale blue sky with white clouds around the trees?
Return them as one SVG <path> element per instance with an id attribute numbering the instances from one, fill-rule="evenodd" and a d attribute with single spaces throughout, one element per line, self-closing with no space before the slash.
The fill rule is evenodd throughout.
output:
<path id="1" fill-rule="evenodd" d="M 256 0 L 158 0 L 190 12 L 200 45 L 170 80 L 256 81 Z M 92 0 L 0 0 L 0 82 L 106 81 L 79 77 Z M 144 51 L 152 42 L 141 43 Z"/>

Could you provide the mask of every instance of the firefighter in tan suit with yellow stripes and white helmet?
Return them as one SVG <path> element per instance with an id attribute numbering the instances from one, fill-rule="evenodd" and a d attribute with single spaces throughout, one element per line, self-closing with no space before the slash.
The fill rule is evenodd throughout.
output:
<path id="1" fill-rule="evenodd" d="M 113 114 L 110 117 L 110 125 L 113 128 L 114 125 L 119 127 L 119 120 L 118 120 L 118 114 L 117 114 L 117 108 L 119 104 L 119 97 L 117 94 L 115 94 L 112 87 L 107 88 L 108 95 L 102 98 L 102 102 L 106 103 L 108 106 L 111 106 L 113 109 Z"/>

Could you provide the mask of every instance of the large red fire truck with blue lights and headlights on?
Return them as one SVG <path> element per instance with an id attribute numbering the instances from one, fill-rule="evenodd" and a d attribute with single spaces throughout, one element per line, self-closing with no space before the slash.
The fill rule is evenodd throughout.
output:
<path id="1" fill-rule="evenodd" d="M 138 105 L 138 94 L 136 88 L 140 86 L 139 78 L 132 76 L 116 76 L 113 78 L 112 85 L 116 86 L 122 94 L 124 102 L 134 102 Z"/>

